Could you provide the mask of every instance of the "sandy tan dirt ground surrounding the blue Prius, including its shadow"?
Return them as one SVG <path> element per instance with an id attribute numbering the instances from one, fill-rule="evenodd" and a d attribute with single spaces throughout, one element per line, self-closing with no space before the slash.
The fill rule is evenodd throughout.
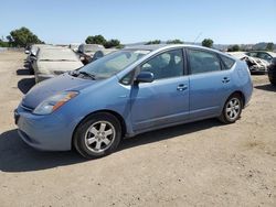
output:
<path id="1" fill-rule="evenodd" d="M 254 76 L 235 124 L 183 124 L 125 140 L 104 159 L 38 152 L 13 109 L 33 84 L 25 55 L 0 53 L 0 206 L 276 206 L 276 88 Z"/>

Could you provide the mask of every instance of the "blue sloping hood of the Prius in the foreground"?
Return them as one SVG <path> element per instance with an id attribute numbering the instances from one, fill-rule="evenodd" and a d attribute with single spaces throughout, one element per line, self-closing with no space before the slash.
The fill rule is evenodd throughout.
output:
<path id="1" fill-rule="evenodd" d="M 82 79 L 70 76 L 67 73 L 35 85 L 22 99 L 23 107 L 34 109 L 46 98 L 65 90 L 82 90 L 99 80 Z"/>

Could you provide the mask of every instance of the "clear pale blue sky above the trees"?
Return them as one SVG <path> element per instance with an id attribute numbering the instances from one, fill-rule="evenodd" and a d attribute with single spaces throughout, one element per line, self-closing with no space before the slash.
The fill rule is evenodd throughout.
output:
<path id="1" fill-rule="evenodd" d="M 124 44 L 205 37 L 215 44 L 276 43 L 276 0 L 0 1 L 0 37 L 21 26 L 53 44 L 97 34 Z"/>

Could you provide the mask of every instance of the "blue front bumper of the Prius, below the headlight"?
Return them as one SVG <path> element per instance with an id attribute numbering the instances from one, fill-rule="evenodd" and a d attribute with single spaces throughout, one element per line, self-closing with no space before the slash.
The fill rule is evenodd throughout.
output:
<path id="1" fill-rule="evenodd" d="M 54 113 L 33 115 L 19 107 L 14 120 L 21 139 L 30 146 L 42 151 L 68 151 L 72 148 L 74 127 L 70 120 Z"/>

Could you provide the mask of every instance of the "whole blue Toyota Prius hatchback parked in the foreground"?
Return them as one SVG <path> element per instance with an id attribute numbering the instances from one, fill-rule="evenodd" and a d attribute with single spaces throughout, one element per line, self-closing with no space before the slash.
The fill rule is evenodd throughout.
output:
<path id="1" fill-rule="evenodd" d="M 29 145 L 75 148 L 91 159 L 150 130 L 208 118 L 234 123 L 252 91 L 247 65 L 226 54 L 194 45 L 137 46 L 38 84 L 14 118 Z"/>

